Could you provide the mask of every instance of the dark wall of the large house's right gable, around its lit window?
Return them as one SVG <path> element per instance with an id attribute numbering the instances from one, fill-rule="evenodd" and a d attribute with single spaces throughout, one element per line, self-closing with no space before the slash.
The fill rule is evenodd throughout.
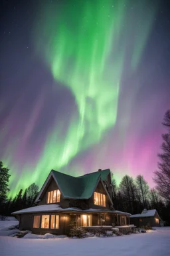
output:
<path id="1" fill-rule="evenodd" d="M 110 199 L 109 199 L 101 181 L 98 183 L 98 186 L 96 187 L 95 192 L 102 193 L 102 194 L 106 195 L 106 207 L 103 207 L 101 205 L 94 205 L 94 194 L 93 194 L 92 197 L 90 197 L 90 199 L 88 199 L 89 208 L 92 208 L 92 209 L 110 209 L 110 206 L 111 206 Z"/>

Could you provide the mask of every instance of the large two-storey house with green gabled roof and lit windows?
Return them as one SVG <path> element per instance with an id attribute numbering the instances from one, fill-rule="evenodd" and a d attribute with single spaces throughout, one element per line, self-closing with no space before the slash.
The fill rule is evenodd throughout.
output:
<path id="1" fill-rule="evenodd" d="M 35 207 L 12 213 L 19 220 L 19 229 L 67 235 L 73 219 L 81 227 L 127 227 L 130 224 L 130 213 L 114 210 L 110 169 L 80 177 L 52 170 L 36 203 Z"/>

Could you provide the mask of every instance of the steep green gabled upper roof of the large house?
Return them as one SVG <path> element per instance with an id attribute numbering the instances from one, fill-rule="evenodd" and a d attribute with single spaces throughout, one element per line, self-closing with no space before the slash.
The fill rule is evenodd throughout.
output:
<path id="1" fill-rule="evenodd" d="M 72 177 L 70 175 L 60 173 L 59 171 L 52 170 L 48 175 L 44 185 L 42 186 L 36 201 L 38 201 L 41 197 L 42 191 L 44 191 L 44 188 L 50 180 L 50 177 L 53 177 L 54 181 L 56 181 L 56 184 L 58 185 L 58 188 L 60 189 L 63 197 L 70 199 L 89 199 L 92 197 L 92 194 L 94 193 L 99 181 L 101 181 L 102 185 L 104 186 L 103 181 L 107 178 L 109 173 L 110 169 L 106 169 L 103 171 L 89 173 L 80 177 Z M 106 190 L 105 186 L 104 189 Z M 106 193 L 108 194 L 107 190 Z M 110 198 L 109 194 L 108 197 Z M 112 202 L 111 198 L 110 201 Z"/>

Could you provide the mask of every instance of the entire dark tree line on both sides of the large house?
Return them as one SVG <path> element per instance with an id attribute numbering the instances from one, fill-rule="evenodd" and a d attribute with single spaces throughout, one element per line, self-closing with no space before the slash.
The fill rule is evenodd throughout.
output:
<path id="1" fill-rule="evenodd" d="M 112 174 L 114 208 L 131 214 L 141 213 L 143 209 L 157 209 L 160 217 L 170 225 L 170 110 L 165 113 L 163 126 L 167 133 L 162 135 L 162 152 L 158 154 L 157 170 L 153 173 L 155 188 L 149 189 L 142 175 L 135 179 L 125 175 L 118 186 Z M 0 215 L 35 206 L 39 187 L 33 183 L 25 191 L 21 189 L 15 198 L 7 198 L 9 192 L 9 169 L 0 161 Z"/>

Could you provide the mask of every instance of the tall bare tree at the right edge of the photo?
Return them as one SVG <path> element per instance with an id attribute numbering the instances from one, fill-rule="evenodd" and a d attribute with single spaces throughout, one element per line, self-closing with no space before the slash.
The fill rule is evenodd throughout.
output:
<path id="1" fill-rule="evenodd" d="M 154 172 L 153 180 L 157 185 L 159 195 L 170 201 L 170 110 L 165 113 L 163 125 L 167 127 L 168 133 L 162 135 L 163 143 L 159 154 L 158 169 Z"/>

